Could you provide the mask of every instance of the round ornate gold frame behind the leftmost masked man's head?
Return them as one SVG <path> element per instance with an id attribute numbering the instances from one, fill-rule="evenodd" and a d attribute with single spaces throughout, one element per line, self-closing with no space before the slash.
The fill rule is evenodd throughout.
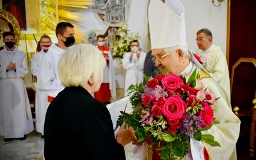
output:
<path id="1" fill-rule="evenodd" d="M 15 17 L 10 13 L 7 12 L 6 10 L 0 9 L 0 47 L 2 47 L 4 44 L 3 42 L 3 36 L 2 34 L 6 31 L 13 31 L 16 35 L 16 46 L 19 45 L 19 40 L 20 40 L 20 26 L 15 19 Z"/>

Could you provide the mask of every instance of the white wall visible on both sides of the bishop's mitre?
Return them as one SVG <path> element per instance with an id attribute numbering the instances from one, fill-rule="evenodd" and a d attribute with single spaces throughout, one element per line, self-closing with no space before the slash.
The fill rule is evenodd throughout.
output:
<path id="1" fill-rule="evenodd" d="M 148 0 L 131 1 L 128 29 L 141 36 L 141 47 L 148 51 Z M 213 6 L 211 0 L 180 0 L 185 8 L 186 35 L 189 49 L 196 52 L 198 47 L 195 42 L 196 32 L 202 28 L 208 28 L 212 32 L 213 43 L 220 45 L 226 54 L 227 48 L 227 3 L 225 0 L 220 6 Z M 215 0 L 214 4 L 219 2 Z M 164 18 L 164 17 L 163 17 Z"/>

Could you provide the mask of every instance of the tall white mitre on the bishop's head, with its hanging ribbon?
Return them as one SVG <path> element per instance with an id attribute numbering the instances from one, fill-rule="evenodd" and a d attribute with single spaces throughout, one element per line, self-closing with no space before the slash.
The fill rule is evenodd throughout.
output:
<path id="1" fill-rule="evenodd" d="M 175 46 L 187 46 L 185 9 L 179 0 L 150 0 L 148 22 L 151 47 L 164 49 Z M 191 60 L 204 72 L 207 70 L 196 60 L 191 51 Z"/>

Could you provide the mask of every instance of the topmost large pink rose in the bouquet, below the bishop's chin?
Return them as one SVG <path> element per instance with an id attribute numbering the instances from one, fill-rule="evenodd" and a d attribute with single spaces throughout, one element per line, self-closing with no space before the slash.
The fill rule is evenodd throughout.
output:
<path id="1" fill-rule="evenodd" d="M 170 93 L 174 93 L 177 88 L 180 88 L 182 86 L 183 81 L 180 78 L 180 76 L 177 76 L 176 74 L 168 74 L 162 79 L 163 87 L 168 90 Z"/>

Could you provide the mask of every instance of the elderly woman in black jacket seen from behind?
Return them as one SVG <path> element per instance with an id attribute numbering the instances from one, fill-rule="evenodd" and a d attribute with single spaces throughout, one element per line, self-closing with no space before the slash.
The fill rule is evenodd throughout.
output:
<path id="1" fill-rule="evenodd" d="M 92 94 L 102 83 L 106 60 L 90 44 L 70 47 L 58 64 L 65 89 L 45 117 L 45 159 L 125 159 L 124 145 L 134 138 L 121 127 L 116 135 L 108 109 Z"/>

